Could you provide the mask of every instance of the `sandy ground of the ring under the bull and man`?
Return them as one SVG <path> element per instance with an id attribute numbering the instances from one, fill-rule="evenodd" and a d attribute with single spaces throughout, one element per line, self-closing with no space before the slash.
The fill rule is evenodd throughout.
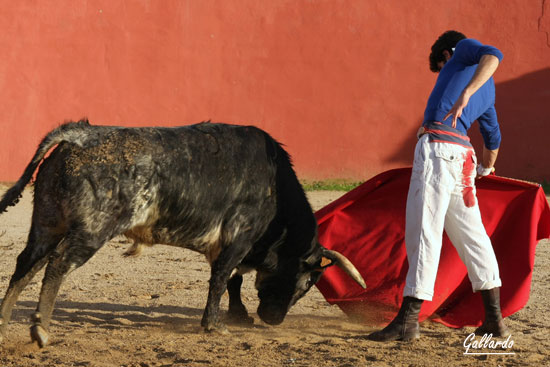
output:
<path id="1" fill-rule="evenodd" d="M 5 188 L 0 188 L 0 191 Z M 315 209 L 341 192 L 311 192 Z M 0 216 L 0 296 L 17 255 L 25 246 L 32 193 Z M 155 246 L 141 257 L 124 258 L 130 244 L 107 243 L 69 275 L 57 298 L 51 343 L 30 342 L 29 318 L 36 307 L 43 272 L 25 289 L 0 345 L 0 366 L 550 366 L 550 241 L 537 247 L 531 298 L 507 319 L 509 355 L 464 355 L 473 328 L 421 324 L 414 342 L 381 344 L 366 334 L 378 325 L 358 324 L 314 288 L 283 324 L 267 326 L 255 314 L 253 274 L 245 275 L 243 299 L 255 318 L 250 327 L 230 326 L 230 335 L 200 327 L 209 266 L 188 250 Z M 222 300 L 227 309 L 227 296 Z M 485 350 L 488 351 L 488 350 Z"/>

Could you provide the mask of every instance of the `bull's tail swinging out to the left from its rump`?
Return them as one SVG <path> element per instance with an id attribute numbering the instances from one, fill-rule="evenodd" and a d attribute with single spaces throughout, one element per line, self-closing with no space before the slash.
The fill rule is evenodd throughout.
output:
<path id="1" fill-rule="evenodd" d="M 90 126 L 88 120 L 81 120 L 79 122 L 69 122 L 59 126 L 57 129 L 52 130 L 38 146 L 34 157 L 25 168 L 25 172 L 19 180 L 13 185 L 2 197 L 0 201 L 0 213 L 6 211 L 8 206 L 14 206 L 19 202 L 19 199 L 22 196 L 22 192 L 25 189 L 25 186 L 32 179 L 34 171 L 46 155 L 48 151 L 55 145 L 63 142 L 69 141 L 75 144 L 82 145 L 86 140 L 85 131 L 87 127 Z"/>

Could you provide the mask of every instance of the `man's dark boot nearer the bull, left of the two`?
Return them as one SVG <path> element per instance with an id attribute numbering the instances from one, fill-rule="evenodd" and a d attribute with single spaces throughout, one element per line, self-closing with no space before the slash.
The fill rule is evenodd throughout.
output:
<path id="1" fill-rule="evenodd" d="M 411 340 L 420 337 L 418 314 L 422 300 L 413 297 L 404 297 L 399 313 L 384 329 L 375 331 L 367 339 L 388 342 L 392 340 Z"/>

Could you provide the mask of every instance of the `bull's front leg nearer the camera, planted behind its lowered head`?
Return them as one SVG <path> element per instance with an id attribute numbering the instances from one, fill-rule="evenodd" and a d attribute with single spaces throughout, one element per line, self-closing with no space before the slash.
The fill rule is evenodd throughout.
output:
<path id="1" fill-rule="evenodd" d="M 241 243 L 224 246 L 217 259 L 212 263 L 208 300 L 202 316 L 201 325 L 207 332 L 227 334 L 227 326 L 220 318 L 220 301 L 227 288 L 227 282 L 233 269 L 240 264 L 249 247 Z"/>

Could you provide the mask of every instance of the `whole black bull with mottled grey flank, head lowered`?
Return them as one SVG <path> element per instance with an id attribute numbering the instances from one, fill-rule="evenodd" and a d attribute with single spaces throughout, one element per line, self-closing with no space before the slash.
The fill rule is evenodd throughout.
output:
<path id="1" fill-rule="evenodd" d="M 47 264 L 31 327 L 33 340 L 44 346 L 64 277 L 120 234 L 206 256 L 211 278 L 201 324 L 208 331 L 226 330 L 219 316 L 226 288 L 228 316 L 250 322 L 240 298 L 241 274 L 249 270 L 257 272 L 258 315 L 269 324 L 283 321 L 326 266 L 340 266 L 364 286 L 345 257 L 318 243 L 288 154 L 258 128 L 67 123 L 40 143 L 2 198 L 0 213 L 17 203 L 43 159 L 27 246 L 0 307 L 0 337 L 17 297 Z"/>

